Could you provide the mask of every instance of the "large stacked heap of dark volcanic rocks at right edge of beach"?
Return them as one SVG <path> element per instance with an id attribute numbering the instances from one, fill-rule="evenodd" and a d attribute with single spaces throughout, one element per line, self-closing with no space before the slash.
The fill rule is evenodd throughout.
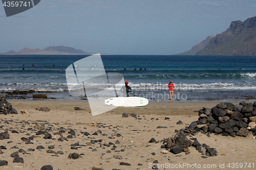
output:
<path id="1" fill-rule="evenodd" d="M 212 109 L 199 110 L 199 118 L 184 130 L 185 133 L 196 132 L 221 134 L 223 136 L 243 136 L 249 133 L 256 135 L 256 102 L 220 103 Z"/>

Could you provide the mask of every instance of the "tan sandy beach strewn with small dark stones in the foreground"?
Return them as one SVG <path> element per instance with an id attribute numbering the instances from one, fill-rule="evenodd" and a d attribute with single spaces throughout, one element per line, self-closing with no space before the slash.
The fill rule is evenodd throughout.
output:
<path id="1" fill-rule="evenodd" d="M 203 167 L 209 164 L 216 164 L 216 168 L 213 169 L 253 169 L 256 168 L 256 154 L 254 145 L 256 139 L 253 139 L 252 135 L 248 137 L 225 137 L 221 135 L 211 134 L 207 137 L 204 134 L 198 134 L 197 137 L 200 143 L 206 143 L 211 148 L 216 148 L 218 156 L 201 158 L 201 153 L 196 151 L 194 147 L 190 147 L 190 154 L 185 155 L 184 152 L 174 155 L 170 152 L 167 154 L 161 154 L 161 145 L 159 143 L 149 143 L 148 141 L 154 137 L 156 140 L 162 140 L 164 138 L 175 135 L 175 130 L 179 130 L 188 126 L 191 122 L 198 119 L 198 111 L 202 107 L 212 108 L 218 103 L 150 103 L 145 107 L 126 108 L 119 107 L 111 110 L 107 113 L 92 116 L 90 108 L 85 101 L 9 101 L 13 108 L 15 108 L 19 114 L 17 115 L 1 115 L 0 132 L 4 132 L 8 129 L 10 139 L 0 140 L 0 145 L 5 145 L 7 150 L 3 150 L 3 154 L 0 154 L 0 160 L 7 160 L 7 166 L 1 166 L 0 169 L 40 169 L 43 165 L 52 165 L 53 169 L 92 169 L 94 165 L 102 164 L 104 169 L 152 169 L 150 165 L 153 161 L 158 160 L 156 164 L 169 164 L 172 169 L 172 165 L 177 167 L 177 164 L 198 164 Z M 236 104 L 236 103 L 234 103 Z M 42 112 L 36 110 L 36 108 L 48 107 L 51 109 L 49 112 Z M 80 107 L 85 110 L 75 111 L 74 107 Z M 20 111 L 26 110 L 28 114 L 20 114 Z M 122 117 L 122 113 L 135 113 L 137 118 L 134 117 Z M 170 119 L 165 120 L 165 117 Z M 151 118 L 154 118 L 153 120 Z M 159 120 L 156 120 L 158 118 Z M 3 121 L 4 120 L 4 121 Z M 8 120 L 10 124 L 6 124 Z M 9 121 L 13 120 L 13 122 Z M 47 122 L 40 122 L 38 120 L 44 120 Z M 181 120 L 183 125 L 177 125 L 176 123 Z M 28 122 L 29 124 L 27 124 Z M 99 124 L 105 128 L 98 128 L 96 126 L 90 126 L 92 124 Z M 34 144 L 25 144 L 20 138 L 29 137 L 35 135 L 35 132 L 27 130 L 38 125 L 50 127 L 53 126 L 53 131 L 50 132 L 52 139 L 44 139 L 44 135 L 31 140 Z M 49 126 L 50 125 L 50 126 Z M 158 126 L 165 126 L 167 128 L 157 129 Z M 58 132 L 60 127 L 65 128 L 66 133 L 62 135 L 67 137 L 69 130 L 73 129 L 76 134 L 68 141 L 57 140 L 60 136 L 54 135 Z M 19 134 L 11 133 L 11 130 L 17 130 Z M 38 129 L 36 129 L 38 131 Z M 92 135 L 94 132 L 101 130 L 102 134 L 107 136 Z M 91 135 L 84 136 L 80 132 L 88 132 Z M 29 135 L 26 135 L 29 133 Z M 121 134 L 122 137 L 117 137 L 116 134 Z M 113 137 L 110 139 L 109 137 Z M 56 137 L 56 138 L 55 138 Z M 116 140 L 120 141 L 120 144 L 115 144 L 117 148 L 111 150 L 111 147 L 100 148 L 99 143 L 89 144 L 91 140 L 102 139 L 106 143 L 115 143 Z M 11 143 L 7 143 L 12 141 Z M 78 150 L 72 150 L 71 144 L 79 142 L 81 148 Z M 19 149 L 25 150 L 29 154 L 19 153 L 19 157 L 24 159 L 24 163 L 13 163 L 13 158 L 10 155 L 18 151 L 19 149 L 10 149 L 17 145 Z M 37 150 L 36 147 L 42 145 L 44 150 Z M 47 153 L 48 145 L 54 145 L 53 151 L 62 151 L 63 155 L 52 156 L 55 154 Z M 79 146 L 78 146 L 79 147 Z M 34 152 L 27 151 L 28 149 L 35 149 Z M 96 152 L 92 152 L 92 149 L 97 149 Z M 106 153 L 110 150 L 111 153 Z M 124 150 L 121 152 L 120 150 Z M 119 152 L 115 152 L 119 151 Z M 156 155 L 151 153 L 155 152 Z M 83 153 L 79 159 L 68 159 L 70 153 Z M 101 159 L 102 154 L 111 155 L 111 159 Z M 226 156 L 221 156 L 225 154 Z M 122 159 L 113 158 L 114 155 L 120 155 Z M 120 162 L 130 163 L 131 166 L 119 165 Z M 138 164 L 142 164 L 142 166 Z M 224 168 L 220 167 L 220 164 L 225 164 Z M 227 167 L 230 163 L 230 168 Z M 238 163 L 239 168 L 231 168 L 232 164 Z M 241 168 L 240 163 L 250 163 L 251 168 L 244 168 L 245 164 Z M 185 164 L 184 164 L 185 165 Z M 209 166 L 208 165 L 208 166 Z M 248 164 L 247 164 L 248 165 Z M 178 166 L 176 169 L 181 169 Z M 183 169 L 187 166 L 182 166 Z M 158 168 L 164 169 L 164 168 Z M 211 168 L 210 168 L 211 169 Z"/>

